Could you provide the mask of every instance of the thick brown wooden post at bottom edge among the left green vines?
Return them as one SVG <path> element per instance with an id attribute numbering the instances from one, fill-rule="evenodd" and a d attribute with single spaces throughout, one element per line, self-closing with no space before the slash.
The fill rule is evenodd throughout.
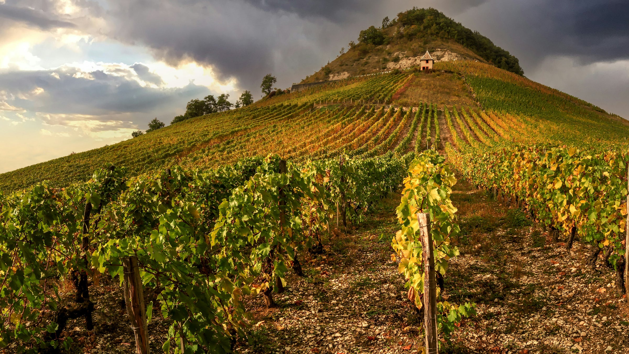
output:
<path id="1" fill-rule="evenodd" d="M 135 348 L 138 354 L 148 354 L 147 313 L 144 309 L 144 290 L 138 258 L 136 256 L 122 259 L 125 279 L 123 290 L 125 291 L 126 313 L 131 321 L 131 328 L 135 334 Z"/>

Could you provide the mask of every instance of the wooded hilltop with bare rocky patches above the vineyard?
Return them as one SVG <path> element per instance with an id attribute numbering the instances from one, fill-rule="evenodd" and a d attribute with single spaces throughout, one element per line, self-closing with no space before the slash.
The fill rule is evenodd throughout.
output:
<path id="1" fill-rule="evenodd" d="M 413 8 L 382 26 L 360 31 L 359 42 L 301 83 L 334 80 L 392 69 L 418 66 L 426 50 L 436 61 L 478 60 L 523 75 L 516 57 L 489 38 L 457 23 L 433 8 Z M 345 48 L 343 48 L 345 49 Z"/>

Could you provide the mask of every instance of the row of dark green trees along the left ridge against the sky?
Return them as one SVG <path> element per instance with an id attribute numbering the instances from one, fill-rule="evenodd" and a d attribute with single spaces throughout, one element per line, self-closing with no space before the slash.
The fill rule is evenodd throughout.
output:
<path id="1" fill-rule="evenodd" d="M 271 74 L 266 74 L 264 78 L 262 78 L 262 84 L 260 84 L 262 93 L 264 93 L 265 96 L 272 96 L 272 93 L 281 91 L 279 89 L 275 89 L 275 91 L 273 91 L 273 85 L 275 83 L 277 83 L 277 78 L 275 76 L 272 76 Z M 186 105 L 186 113 L 172 118 L 172 120 L 170 121 L 170 125 L 183 122 L 184 120 L 188 120 L 190 118 L 201 117 L 202 115 L 208 115 L 210 113 L 227 111 L 231 110 L 231 108 L 240 108 L 251 105 L 253 103 L 253 94 L 248 90 L 243 91 L 243 93 L 240 94 L 240 98 L 238 98 L 235 103 L 231 103 L 230 101 L 228 101 L 228 98 L 230 98 L 230 95 L 223 93 L 216 98 L 213 94 L 208 94 L 208 96 L 205 96 L 203 100 L 199 100 L 198 98 L 190 100 Z M 145 130 L 145 132 L 150 133 L 154 130 L 164 127 L 164 122 L 161 122 L 157 118 L 153 118 L 153 120 L 148 123 L 148 129 Z M 142 130 L 136 130 L 135 132 L 131 133 L 131 136 L 134 138 L 139 137 L 145 132 L 142 132 Z"/>

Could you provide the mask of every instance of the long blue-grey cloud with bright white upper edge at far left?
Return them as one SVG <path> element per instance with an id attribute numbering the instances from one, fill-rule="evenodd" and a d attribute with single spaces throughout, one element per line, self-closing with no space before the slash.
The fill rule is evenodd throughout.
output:
<path id="1" fill-rule="evenodd" d="M 0 91 L 6 91 L 12 106 L 31 112 L 68 115 L 148 113 L 155 110 L 183 111 L 186 102 L 209 93 L 205 86 L 148 88 L 124 76 L 92 71 L 77 75 L 74 68 L 55 71 L 14 71 L 0 74 Z M 58 76 L 58 78 L 57 78 Z M 91 78 L 90 78 L 91 77 Z M 37 93 L 38 88 L 43 92 Z"/>

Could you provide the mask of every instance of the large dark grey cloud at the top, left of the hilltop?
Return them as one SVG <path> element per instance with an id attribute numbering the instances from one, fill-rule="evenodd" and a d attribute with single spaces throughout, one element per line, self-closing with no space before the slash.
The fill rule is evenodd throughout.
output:
<path id="1" fill-rule="evenodd" d="M 194 60 L 212 66 L 219 79 L 236 77 L 242 88 L 255 91 L 269 72 L 278 75 L 279 84 L 290 84 L 290 79 L 301 79 L 304 68 L 318 70 L 329 57 L 326 53 L 332 52 L 326 49 L 329 37 L 343 36 L 338 33 L 343 30 L 338 18 L 337 22 L 328 20 L 335 17 L 333 6 L 328 6 L 329 16 L 323 16 L 326 6 L 315 2 L 149 3 L 109 1 L 107 35 L 124 43 L 146 45 L 169 64 Z"/>

